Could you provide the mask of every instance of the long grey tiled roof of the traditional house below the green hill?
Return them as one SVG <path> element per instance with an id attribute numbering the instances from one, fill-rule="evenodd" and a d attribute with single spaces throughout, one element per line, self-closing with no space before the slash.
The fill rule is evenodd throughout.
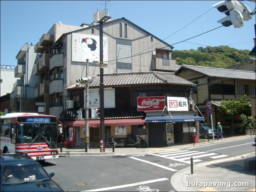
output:
<path id="1" fill-rule="evenodd" d="M 194 66 L 194 65 L 182 65 L 181 68 L 177 70 L 175 74 L 179 73 L 179 71 L 182 69 L 193 70 L 208 77 L 256 80 L 254 71 L 242 71 L 242 70 L 202 67 L 202 66 Z"/>

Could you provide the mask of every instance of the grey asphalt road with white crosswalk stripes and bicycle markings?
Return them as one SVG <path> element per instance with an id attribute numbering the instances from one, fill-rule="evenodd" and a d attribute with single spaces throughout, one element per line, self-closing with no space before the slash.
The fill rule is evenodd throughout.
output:
<path id="1" fill-rule="evenodd" d="M 130 155 L 60 156 L 42 163 L 65 191 L 175 191 L 170 178 L 193 163 L 255 152 L 251 138 L 187 150 Z"/>

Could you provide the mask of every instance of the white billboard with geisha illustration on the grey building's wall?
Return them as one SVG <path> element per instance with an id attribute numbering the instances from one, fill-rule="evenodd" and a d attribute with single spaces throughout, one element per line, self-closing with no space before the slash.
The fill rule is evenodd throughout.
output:
<path id="1" fill-rule="evenodd" d="M 100 36 L 72 33 L 72 61 L 100 61 Z M 108 61 L 108 38 L 103 37 L 103 62 Z"/>

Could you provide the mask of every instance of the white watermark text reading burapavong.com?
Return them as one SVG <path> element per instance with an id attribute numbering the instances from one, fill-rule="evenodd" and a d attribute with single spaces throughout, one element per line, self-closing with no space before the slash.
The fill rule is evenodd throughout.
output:
<path id="1" fill-rule="evenodd" d="M 249 187 L 249 182 L 234 182 L 233 184 L 231 184 L 231 182 L 189 182 L 187 181 L 187 187 Z"/>

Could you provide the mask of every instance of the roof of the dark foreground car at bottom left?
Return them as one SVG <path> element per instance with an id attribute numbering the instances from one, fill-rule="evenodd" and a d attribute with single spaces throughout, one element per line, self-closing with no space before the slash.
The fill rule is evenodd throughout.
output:
<path id="1" fill-rule="evenodd" d="M 26 153 L 3 153 L 1 154 L 1 166 L 5 165 L 25 165 L 38 163 L 36 160 L 29 157 Z"/>

